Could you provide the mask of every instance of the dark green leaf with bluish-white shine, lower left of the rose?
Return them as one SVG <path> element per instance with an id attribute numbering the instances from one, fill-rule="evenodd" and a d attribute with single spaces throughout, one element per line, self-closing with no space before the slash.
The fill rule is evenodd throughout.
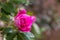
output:
<path id="1" fill-rule="evenodd" d="M 3 34 L 6 35 L 6 40 L 13 40 L 16 37 L 16 31 L 12 28 L 5 28 Z"/>

